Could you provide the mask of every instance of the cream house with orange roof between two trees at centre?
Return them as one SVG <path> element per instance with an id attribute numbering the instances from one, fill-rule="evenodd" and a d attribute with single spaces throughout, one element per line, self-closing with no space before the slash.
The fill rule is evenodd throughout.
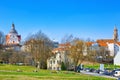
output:
<path id="1" fill-rule="evenodd" d="M 47 69 L 61 70 L 62 62 L 67 69 L 70 69 L 73 66 L 71 58 L 67 55 L 68 47 L 70 47 L 70 44 L 59 44 L 59 47 L 53 50 L 54 55 L 47 59 Z"/>

